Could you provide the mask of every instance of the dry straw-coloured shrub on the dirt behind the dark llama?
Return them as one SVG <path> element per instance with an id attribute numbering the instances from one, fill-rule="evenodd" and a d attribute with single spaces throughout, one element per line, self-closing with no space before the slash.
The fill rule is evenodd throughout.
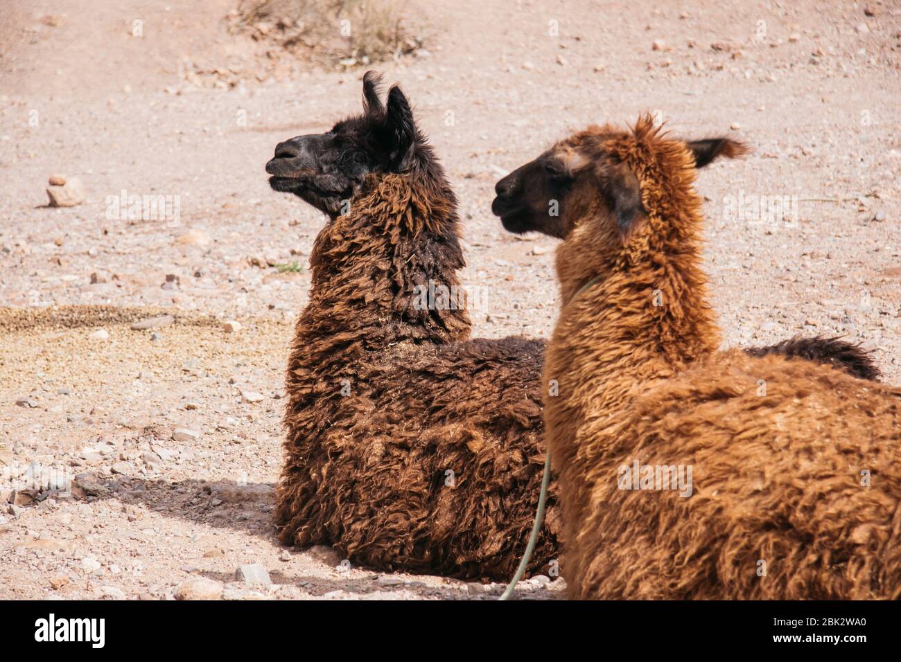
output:
<path id="1" fill-rule="evenodd" d="M 232 32 L 345 67 L 399 58 L 422 46 L 403 0 L 240 0 Z"/>

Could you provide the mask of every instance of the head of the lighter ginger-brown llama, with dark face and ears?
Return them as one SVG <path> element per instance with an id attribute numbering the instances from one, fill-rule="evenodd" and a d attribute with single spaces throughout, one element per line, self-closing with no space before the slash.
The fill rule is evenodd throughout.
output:
<path id="1" fill-rule="evenodd" d="M 671 139 L 650 116 L 632 131 L 590 126 L 497 182 L 491 210 L 517 234 L 566 239 L 582 222 L 592 222 L 608 249 L 624 249 L 649 217 L 667 217 L 670 204 L 695 202 L 696 168 L 746 151 L 728 138 Z"/>

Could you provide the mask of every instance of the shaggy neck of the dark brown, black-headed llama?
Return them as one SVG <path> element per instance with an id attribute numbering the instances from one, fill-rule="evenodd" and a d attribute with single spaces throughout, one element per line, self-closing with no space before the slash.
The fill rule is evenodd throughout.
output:
<path id="1" fill-rule="evenodd" d="M 421 179 L 421 178 L 420 178 Z M 456 306 L 421 305 L 422 288 L 459 286 L 464 266 L 457 203 L 448 186 L 415 177 L 372 176 L 349 213 L 316 238 L 310 303 L 298 344 L 347 360 L 404 341 L 443 343 L 469 335 Z M 330 342 L 323 342 L 324 339 Z M 324 349 L 323 349 L 324 348 Z"/>

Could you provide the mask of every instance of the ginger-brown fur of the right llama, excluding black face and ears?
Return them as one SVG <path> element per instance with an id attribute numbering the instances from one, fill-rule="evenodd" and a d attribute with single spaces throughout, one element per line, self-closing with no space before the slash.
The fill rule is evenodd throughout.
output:
<path id="1" fill-rule="evenodd" d="M 578 157 L 544 367 L 570 596 L 901 597 L 901 389 L 717 350 L 695 159 L 650 117 L 555 150 Z M 621 489 L 636 461 L 692 467 L 691 495 Z"/>

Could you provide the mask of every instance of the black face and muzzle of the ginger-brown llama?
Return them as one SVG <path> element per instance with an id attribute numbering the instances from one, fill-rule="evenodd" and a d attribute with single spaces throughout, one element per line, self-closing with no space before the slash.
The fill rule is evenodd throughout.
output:
<path id="1" fill-rule="evenodd" d="M 573 177 L 546 152 L 497 182 L 491 212 L 500 217 L 506 231 L 535 231 L 562 239 L 563 207 L 572 183 Z"/>

